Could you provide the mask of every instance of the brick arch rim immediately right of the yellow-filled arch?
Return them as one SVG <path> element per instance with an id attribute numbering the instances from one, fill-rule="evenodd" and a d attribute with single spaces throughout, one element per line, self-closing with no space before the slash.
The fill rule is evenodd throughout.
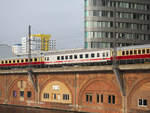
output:
<path id="1" fill-rule="evenodd" d="M 111 87 L 111 89 L 113 89 L 113 91 L 117 92 L 116 94 L 117 94 L 119 100 L 122 100 L 120 90 L 119 90 L 119 88 L 116 86 L 116 84 L 112 80 L 108 80 L 108 79 L 105 79 L 105 78 L 94 78 L 92 80 L 91 79 L 87 80 L 87 82 L 80 89 L 80 91 L 79 91 L 79 98 L 78 98 L 79 104 L 82 104 L 82 99 L 81 98 L 82 98 L 82 96 L 84 94 L 84 91 L 90 85 L 95 84 L 96 82 L 103 82 L 103 84 L 105 84 L 107 86 L 107 88 Z M 99 86 L 95 86 L 94 89 L 96 89 L 97 87 L 99 87 Z M 108 88 L 108 89 L 110 90 L 110 88 Z M 121 104 L 121 103 L 119 103 L 119 104 Z"/>

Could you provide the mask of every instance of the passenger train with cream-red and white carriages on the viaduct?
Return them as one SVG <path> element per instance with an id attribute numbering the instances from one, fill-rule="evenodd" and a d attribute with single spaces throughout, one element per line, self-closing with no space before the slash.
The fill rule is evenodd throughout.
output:
<path id="1" fill-rule="evenodd" d="M 0 69 L 27 68 L 30 66 L 57 67 L 64 65 L 112 65 L 113 48 L 106 49 L 70 49 L 46 52 L 43 55 L 20 56 L 0 59 Z M 150 62 L 150 44 L 116 48 L 118 64 L 136 64 Z"/>

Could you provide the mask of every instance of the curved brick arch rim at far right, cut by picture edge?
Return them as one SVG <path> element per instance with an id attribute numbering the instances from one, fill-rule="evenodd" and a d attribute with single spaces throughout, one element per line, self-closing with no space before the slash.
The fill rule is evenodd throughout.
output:
<path id="1" fill-rule="evenodd" d="M 135 94 L 135 92 L 146 83 L 150 83 L 150 77 L 144 78 L 134 84 L 134 86 L 131 88 L 131 90 L 129 91 L 128 96 L 127 96 L 128 104 L 131 104 L 132 97 Z"/>

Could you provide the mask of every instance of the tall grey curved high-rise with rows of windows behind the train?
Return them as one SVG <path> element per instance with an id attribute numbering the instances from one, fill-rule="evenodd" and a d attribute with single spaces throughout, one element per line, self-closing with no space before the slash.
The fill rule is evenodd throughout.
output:
<path id="1" fill-rule="evenodd" d="M 85 48 L 150 43 L 150 0 L 84 0 Z"/>

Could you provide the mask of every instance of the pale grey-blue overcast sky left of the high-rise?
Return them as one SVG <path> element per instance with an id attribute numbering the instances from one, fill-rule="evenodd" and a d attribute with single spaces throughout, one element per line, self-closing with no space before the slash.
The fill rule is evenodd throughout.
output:
<path id="1" fill-rule="evenodd" d="M 51 34 L 57 49 L 83 48 L 84 0 L 0 0 L 0 43 L 21 43 L 21 37 Z"/>

